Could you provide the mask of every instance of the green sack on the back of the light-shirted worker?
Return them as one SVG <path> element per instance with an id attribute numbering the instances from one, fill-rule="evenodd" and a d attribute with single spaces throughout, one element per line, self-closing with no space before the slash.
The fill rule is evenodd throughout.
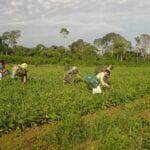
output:
<path id="1" fill-rule="evenodd" d="M 84 81 L 90 88 L 96 88 L 100 81 L 95 76 L 86 76 L 84 77 Z"/>

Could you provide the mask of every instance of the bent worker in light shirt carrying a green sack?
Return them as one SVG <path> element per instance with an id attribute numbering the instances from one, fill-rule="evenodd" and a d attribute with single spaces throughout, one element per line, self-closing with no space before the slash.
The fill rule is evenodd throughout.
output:
<path id="1" fill-rule="evenodd" d="M 93 94 L 102 93 L 101 85 L 110 88 L 109 85 L 109 75 L 110 71 L 105 69 L 99 72 L 96 76 L 87 76 L 84 81 L 88 84 L 90 89 L 92 89 Z"/>

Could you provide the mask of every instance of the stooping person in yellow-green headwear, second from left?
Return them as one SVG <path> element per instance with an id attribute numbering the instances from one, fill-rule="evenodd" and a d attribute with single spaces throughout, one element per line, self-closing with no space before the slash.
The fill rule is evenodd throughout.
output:
<path id="1" fill-rule="evenodd" d="M 27 67 L 28 65 L 26 63 L 23 63 L 21 65 L 15 65 L 12 68 L 12 78 L 20 78 L 21 82 L 26 83 L 27 82 Z"/>

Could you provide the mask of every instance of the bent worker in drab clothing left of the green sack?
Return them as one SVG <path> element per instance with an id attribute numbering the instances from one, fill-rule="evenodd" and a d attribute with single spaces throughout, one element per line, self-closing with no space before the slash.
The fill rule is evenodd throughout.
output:
<path id="1" fill-rule="evenodd" d="M 79 70 L 76 66 L 68 70 L 67 74 L 63 78 L 64 83 L 76 83 L 82 80 Z"/>

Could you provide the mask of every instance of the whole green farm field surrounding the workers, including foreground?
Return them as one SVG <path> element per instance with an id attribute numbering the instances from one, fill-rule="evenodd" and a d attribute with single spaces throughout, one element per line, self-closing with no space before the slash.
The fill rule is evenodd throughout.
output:
<path id="1" fill-rule="evenodd" d="M 94 73 L 94 67 L 80 70 L 83 76 Z M 116 66 L 112 89 L 101 95 L 92 95 L 85 83 L 63 85 L 64 73 L 61 66 L 30 66 L 27 84 L 1 81 L 2 149 L 15 149 L 15 139 L 18 148 L 28 149 L 150 147 L 150 67 Z"/>

